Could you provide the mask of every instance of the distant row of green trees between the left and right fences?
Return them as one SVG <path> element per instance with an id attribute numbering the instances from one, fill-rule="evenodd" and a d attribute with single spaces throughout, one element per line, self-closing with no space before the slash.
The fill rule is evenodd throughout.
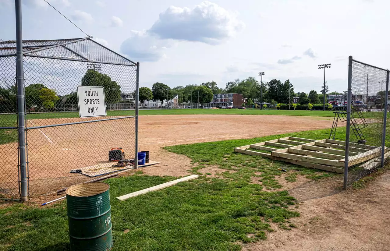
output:
<path id="1" fill-rule="evenodd" d="M 164 83 L 157 82 L 153 84 L 151 89 L 148 87 L 140 87 L 139 100 L 141 103 L 150 100 L 159 100 L 162 103 L 163 100 L 172 99 L 177 95 L 179 103 L 197 103 L 199 92 L 199 102 L 209 103 L 213 100 L 214 94 L 238 93 L 243 94 L 243 97 L 248 99 L 248 105 L 251 105 L 254 103 L 260 103 L 261 89 L 263 94 L 263 102 L 271 104 L 288 104 L 289 102 L 293 103 L 292 99 L 296 96 L 300 98 L 300 104 L 322 104 L 324 92 L 326 95 L 343 95 L 346 93 L 329 92 L 329 87 L 327 84 L 325 85 L 325 88 L 322 87 L 320 93 L 317 93 L 316 90 L 311 90 L 308 94 L 305 92 L 295 93 L 294 86 L 290 80 L 282 82 L 280 80 L 273 79 L 261 85 L 261 83 L 259 83 L 259 81 L 257 81 L 255 78 L 248 77 L 244 80 L 236 79 L 234 81 L 229 81 L 226 83 L 225 88 L 219 88 L 215 81 L 201 83 L 200 85 L 180 85 L 174 88 L 170 88 Z"/>

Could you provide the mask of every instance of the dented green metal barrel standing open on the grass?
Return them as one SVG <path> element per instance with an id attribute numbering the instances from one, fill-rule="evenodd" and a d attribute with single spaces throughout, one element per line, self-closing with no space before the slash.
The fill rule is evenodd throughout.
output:
<path id="1" fill-rule="evenodd" d="M 106 251 L 112 248 L 110 186 L 102 182 L 66 189 L 71 251 Z"/>

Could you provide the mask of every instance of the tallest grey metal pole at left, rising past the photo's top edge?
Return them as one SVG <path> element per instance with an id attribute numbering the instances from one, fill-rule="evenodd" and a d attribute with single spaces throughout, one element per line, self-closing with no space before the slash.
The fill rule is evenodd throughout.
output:
<path id="1" fill-rule="evenodd" d="M 16 83 L 18 87 L 18 136 L 20 158 L 21 201 L 27 201 L 26 139 L 25 139 L 25 96 L 23 71 L 23 38 L 22 38 L 21 0 L 15 0 L 16 17 Z"/>

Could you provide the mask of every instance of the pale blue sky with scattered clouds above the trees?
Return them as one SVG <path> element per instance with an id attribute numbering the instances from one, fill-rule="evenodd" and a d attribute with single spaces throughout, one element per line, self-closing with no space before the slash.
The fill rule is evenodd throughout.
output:
<path id="1" fill-rule="evenodd" d="M 140 86 L 171 88 L 250 76 L 295 92 L 347 89 L 348 56 L 387 69 L 386 0 L 48 0 L 97 42 L 140 62 Z M 13 0 L 0 39 L 15 40 Z M 22 0 L 23 39 L 85 37 L 44 0 Z"/>

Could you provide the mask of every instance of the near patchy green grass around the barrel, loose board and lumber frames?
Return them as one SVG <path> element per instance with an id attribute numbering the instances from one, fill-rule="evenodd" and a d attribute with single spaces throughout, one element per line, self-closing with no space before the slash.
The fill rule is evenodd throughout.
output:
<path id="1" fill-rule="evenodd" d="M 342 133 L 345 128 L 340 128 Z M 339 174 L 238 154 L 233 148 L 284 136 L 323 139 L 328 134 L 329 129 L 324 129 L 166 147 L 190 157 L 191 172 L 202 176 L 123 202 L 115 197 L 176 178 L 142 175 L 140 169 L 133 176 L 106 180 L 112 205 L 112 250 L 237 251 L 240 243 L 264 240 L 268 232 L 302 227 L 294 221 L 300 216 L 296 200 L 287 191 L 275 191 L 282 188 L 275 177 L 285 175 L 287 182 L 295 182 L 298 175 L 321 179 Z M 210 164 L 221 168 L 218 175 L 210 177 L 202 170 Z M 69 250 L 66 202 L 0 208 L 0 250 Z"/>

